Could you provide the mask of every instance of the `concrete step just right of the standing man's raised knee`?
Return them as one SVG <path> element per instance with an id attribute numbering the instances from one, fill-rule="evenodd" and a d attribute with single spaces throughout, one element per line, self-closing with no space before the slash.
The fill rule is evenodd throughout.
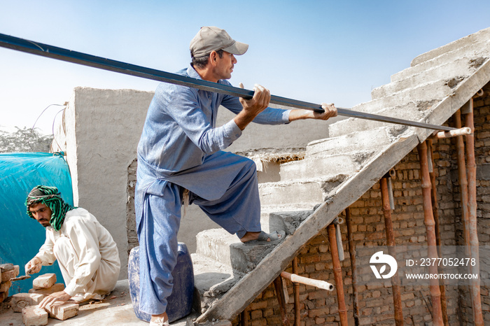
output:
<path id="1" fill-rule="evenodd" d="M 281 164 L 281 181 L 332 177 L 337 174 L 351 176 L 360 169 L 365 155 L 352 153 L 351 155 L 339 154 L 325 157 L 311 157 L 304 160 Z"/>

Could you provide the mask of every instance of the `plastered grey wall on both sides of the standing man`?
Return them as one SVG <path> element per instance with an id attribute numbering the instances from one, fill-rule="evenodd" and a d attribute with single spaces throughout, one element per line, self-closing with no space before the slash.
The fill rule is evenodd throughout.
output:
<path id="1" fill-rule="evenodd" d="M 134 180 L 128 176 L 128 168 L 137 157 L 137 144 L 152 97 L 153 92 L 77 87 L 64 116 L 66 158 L 75 204 L 92 212 L 118 243 L 120 278 L 127 278 L 127 252 L 135 245 L 134 230 L 128 233 L 126 222 L 128 213 L 134 216 L 130 207 L 134 187 L 129 185 Z M 217 125 L 233 116 L 222 108 Z M 314 120 L 280 126 L 251 124 L 228 150 L 244 155 L 273 153 L 276 157 L 297 153 L 310 141 L 326 138 L 328 124 Z M 64 149 L 63 144 L 60 147 Z M 129 227 L 134 227 L 134 223 Z M 195 252 L 195 235 L 216 227 L 197 206 L 190 206 L 181 222 L 179 241 Z M 132 245 L 128 244 L 128 234 Z"/>

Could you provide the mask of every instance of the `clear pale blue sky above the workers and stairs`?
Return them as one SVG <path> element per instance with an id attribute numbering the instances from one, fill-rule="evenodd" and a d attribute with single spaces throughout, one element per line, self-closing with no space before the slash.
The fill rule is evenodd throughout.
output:
<path id="1" fill-rule="evenodd" d="M 250 47 L 233 85 L 350 108 L 423 52 L 490 27 L 490 1 L 0 0 L 0 33 L 174 72 L 202 26 Z M 157 82 L 0 48 L 0 125 L 32 127 L 73 87 L 154 90 Z M 50 133 L 59 106 L 36 127 Z M 59 118 L 59 115 L 58 115 Z"/>

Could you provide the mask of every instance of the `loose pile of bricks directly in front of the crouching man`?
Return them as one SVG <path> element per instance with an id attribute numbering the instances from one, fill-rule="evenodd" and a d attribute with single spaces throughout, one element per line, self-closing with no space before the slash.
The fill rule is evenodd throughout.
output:
<path id="1" fill-rule="evenodd" d="M 64 290 L 62 283 L 56 283 L 55 274 L 38 276 L 32 285 L 29 293 L 13 295 L 10 301 L 13 311 L 22 312 L 25 326 L 48 325 L 48 317 L 66 320 L 78 315 L 78 304 L 73 302 L 48 304 L 44 309 L 38 307 L 45 295 Z"/>

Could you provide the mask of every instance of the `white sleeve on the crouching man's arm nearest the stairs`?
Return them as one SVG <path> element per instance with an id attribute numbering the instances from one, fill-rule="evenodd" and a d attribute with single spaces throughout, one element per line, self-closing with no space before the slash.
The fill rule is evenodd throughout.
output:
<path id="1" fill-rule="evenodd" d="M 78 264 L 74 267 L 75 275 L 64 289 L 64 292 L 73 297 L 76 293 L 83 292 L 83 288 L 92 280 L 99 268 L 101 254 L 97 240 L 97 225 L 73 216 L 66 223 L 66 236 L 69 237 L 78 255 Z"/>

